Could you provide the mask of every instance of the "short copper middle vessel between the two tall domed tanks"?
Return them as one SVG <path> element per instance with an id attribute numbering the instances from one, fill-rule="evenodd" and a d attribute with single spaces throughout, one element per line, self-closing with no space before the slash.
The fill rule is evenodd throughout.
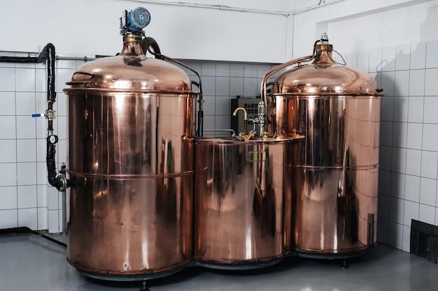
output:
<path id="1" fill-rule="evenodd" d="M 250 264 L 288 253 L 291 197 L 283 189 L 288 142 L 197 139 L 197 262 Z"/>

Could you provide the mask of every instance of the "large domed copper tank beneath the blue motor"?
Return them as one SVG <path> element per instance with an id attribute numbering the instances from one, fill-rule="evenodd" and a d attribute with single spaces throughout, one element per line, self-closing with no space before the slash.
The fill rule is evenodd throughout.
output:
<path id="1" fill-rule="evenodd" d="M 73 74 L 68 94 L 67 260 L 87 276 L 166 276 L 192 260 L 195 97 L 186 73 L 124 31 L 116 57 Z"/>

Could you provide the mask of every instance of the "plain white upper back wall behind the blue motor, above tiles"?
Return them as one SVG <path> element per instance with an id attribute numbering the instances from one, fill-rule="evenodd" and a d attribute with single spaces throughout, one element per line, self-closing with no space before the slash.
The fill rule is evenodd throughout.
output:
<path id="1" fill-rule="evenodd" d="M 269 8 L 262 0 L 194 2 Z M 273 3 L 274 8 L 282 9 L 281 3 L 289 1 Z M 40 52 L 45 44 L 53 43 L 61 54 L 113 55 L 122 49 L 119 34 L 122 10 L 143 6 L 151 14 L 151 22 L 144 29 L 146 35 L 155 38 L 162 53 L 169 57 L 268 63 L 283 62 L 286 57 L 288 17 L 269 11 L 241 12 L 122 0 L 15 0 L 1 6 L 0 51 Z M 8 13 L 4 13 L 6 10 Z"/>

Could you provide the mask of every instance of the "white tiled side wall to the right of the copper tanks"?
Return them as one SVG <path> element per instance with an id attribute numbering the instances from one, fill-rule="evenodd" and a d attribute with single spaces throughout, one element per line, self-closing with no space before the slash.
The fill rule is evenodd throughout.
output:
<path id="1" fill-rule="evenodd" d="M 381 76 L 385 94 L 381 103 L 379 240 L 404 251 L 409 251 L 411 219 L 438 225 L 437 50 L 438 40 L 434 40 L 368 52 L 368 73 Z M 348 52 L 346 57 L 356 59 L 363 68 L 366 55 L 364 51 Z"/>

